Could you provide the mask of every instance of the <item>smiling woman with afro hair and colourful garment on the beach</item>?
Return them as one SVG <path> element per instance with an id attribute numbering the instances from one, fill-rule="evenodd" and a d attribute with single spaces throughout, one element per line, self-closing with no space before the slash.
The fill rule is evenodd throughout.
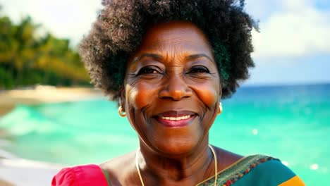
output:
<path id="1" fill-rule="evenodd" d="M 118 101 L 140 148 L 65 168 L 52 185 L 303 185 L 277 159 L 209 144 L 209 128 L 254 66 L 244 1 L 104 1 L 80 54 Z"/>

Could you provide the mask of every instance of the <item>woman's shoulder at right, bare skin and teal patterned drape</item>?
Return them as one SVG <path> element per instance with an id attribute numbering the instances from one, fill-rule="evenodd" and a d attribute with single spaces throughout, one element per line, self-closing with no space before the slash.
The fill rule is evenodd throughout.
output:
<path id="1" fill-rule="evenodd" d="M 300 178 L 283 165 L 279 159 L 271 156 L 240 156 L 220 148 L 216 149 L 218 161 L 219 185 L 268 185 L 303 186 Z"/>

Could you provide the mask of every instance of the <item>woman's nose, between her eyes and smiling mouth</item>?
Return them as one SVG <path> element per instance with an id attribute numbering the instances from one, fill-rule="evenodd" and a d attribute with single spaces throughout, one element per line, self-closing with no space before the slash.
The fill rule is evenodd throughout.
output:
<path id="1" fill-rule="evenodd" d="M 161 99 L 172 99 L 174 101 L 190 97 L 192 94 L 192 89 L 190 89 L 185 80 L 183 80 L 183 77 L 179 75 L 172 75 L 169 77 L 159 91 L 159 97 Z"/>

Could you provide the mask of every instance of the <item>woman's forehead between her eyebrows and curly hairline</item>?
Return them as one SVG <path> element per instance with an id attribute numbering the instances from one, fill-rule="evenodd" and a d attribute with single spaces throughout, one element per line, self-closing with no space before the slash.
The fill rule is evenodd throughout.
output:
<path id="1" fill-rule="evenodd" d="M 207 37 L 193 23 L 173 21 L 149 28 L 145 33 L 140 50 L 181 47 L 180 51 L 192 50 L 211 52 Z"/>

